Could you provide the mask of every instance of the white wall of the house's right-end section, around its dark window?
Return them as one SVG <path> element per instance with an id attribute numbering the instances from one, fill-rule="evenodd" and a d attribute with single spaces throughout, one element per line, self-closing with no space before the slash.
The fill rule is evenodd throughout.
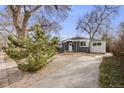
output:
<path id="1" fill-rule="evenodd" d="M 93 43 L 101 43 L 101 46 L 93 46 Z M 106 53 L 106 42 L 105 41 L 91 42 L 90 51 L 95 53 Z"/>

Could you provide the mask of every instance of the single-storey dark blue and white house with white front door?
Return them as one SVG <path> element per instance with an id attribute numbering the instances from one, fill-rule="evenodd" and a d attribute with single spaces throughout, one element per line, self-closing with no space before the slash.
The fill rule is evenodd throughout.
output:
<path id="1" fill-rule="evenodd" d="M 90 40 L 83 37 L 68 38 L 59 42 L 58 51 L 63 52 L 94 52 L 106 53 L 106 41 Z M 89 47 L 90 44 L 90 47 Z"/>

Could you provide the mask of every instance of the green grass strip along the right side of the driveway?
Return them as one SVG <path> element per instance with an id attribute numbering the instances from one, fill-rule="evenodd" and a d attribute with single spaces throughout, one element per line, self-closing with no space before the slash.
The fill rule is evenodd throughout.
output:
<path id="1" fill-rule="evenodd" d="M 104 57 L 100 65 L 99 86 L 103 88 L 124 87 L 124 71 L 114 57 Z"/>

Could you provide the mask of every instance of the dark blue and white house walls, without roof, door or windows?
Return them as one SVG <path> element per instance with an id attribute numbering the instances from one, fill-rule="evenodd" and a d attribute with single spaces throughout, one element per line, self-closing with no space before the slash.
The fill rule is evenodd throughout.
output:
<path id="1" fill-rule="evenodd" d="M 86 46 L 80 46 L 80 42 L 85 41 Z M 106 42 L 105 41 L 92 41 L 89 48 L 89 40 L 79 40 L 79 41 L 66 41 L 61 43 L 62 47 L 59 47 L 59 52 L 69 51 L 69 42 L 72 43 L 72 52 L 94 52 L 94 53 L 106 53 Z M 101 46 L 93 46 L 93 43 L 101 43 Z"/>

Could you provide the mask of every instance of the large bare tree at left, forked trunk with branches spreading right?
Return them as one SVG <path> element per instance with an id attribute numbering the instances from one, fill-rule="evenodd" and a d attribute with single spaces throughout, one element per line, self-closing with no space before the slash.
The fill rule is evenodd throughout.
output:
<path id="1" fill-rule="evenodd" d="M 36 19 L 36 16 L 34 16 L 35 14 L 39 16 L 44 16 L 46 18 L 51 18 L 49 20 L 55 20 L 54 17 L 58 17 L 64 20 L 64 18 L 67 17 L 69 10 L 70 10 L 70 6 L 57 6 L 57 5 L 53 5 L 53 6 L 9 5 L 6 8 L 6 12 L 8 13 L 8 16 L 11 17 L 12 27 L 14 27 L 14 30 L 16 31 L 16 34 L 19 38 L 26 36 L 27 27 L 32 23 L 30 19 L 31 18 L 33 18 L 33 20 Z M 2 13 L 0 14 L 2 15 Z M 41 24 L 44 25 L 44 23 Z M 3 26 L 4 29 L 6 28 L 3 24 L 1 24 L 1 26 Z"/>

